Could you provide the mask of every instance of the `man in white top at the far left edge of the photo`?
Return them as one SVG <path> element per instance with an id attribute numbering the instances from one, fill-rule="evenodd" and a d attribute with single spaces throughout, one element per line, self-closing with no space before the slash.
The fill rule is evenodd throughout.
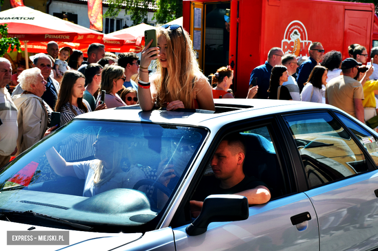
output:
<path id="1" fill-rule="evenodd" d="M 0 58 L 0 168 L 16 154 L 18 125 L 17 108 L 5 88 L 11 81 L 12 66 L 8 59 Z"/>

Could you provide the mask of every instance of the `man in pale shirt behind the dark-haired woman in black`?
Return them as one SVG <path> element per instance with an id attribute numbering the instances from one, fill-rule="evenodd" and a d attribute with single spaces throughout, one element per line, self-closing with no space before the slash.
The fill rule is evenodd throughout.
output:
<path id="1" fill-rule="evenodd" d="M 282 65 L 284 65 L 287 68 L 287 72 L 289 73 L 289 77 L 287 78 L 287 82 L 284 82 L 284 86 L 289 89 L 290 95 L 293 98 L 293 100 L 300 101 L 300 95 L 299 95 L 299 87 L 297 84 L 297 81 L 295 81 L 295 78 L 292 76 L 297 72 L 298 68 L 298 61 L 293 54 L 286 54 L 284 57 L 282 57 Z"/>

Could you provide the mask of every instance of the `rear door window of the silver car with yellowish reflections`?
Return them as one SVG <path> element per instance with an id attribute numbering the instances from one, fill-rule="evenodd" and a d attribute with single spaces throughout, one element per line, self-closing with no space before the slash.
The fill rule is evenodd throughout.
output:
<path id="1" fill-rule="evenodd" d="M 310 188 L 368 170 L 363 152 L 328 113 L 284 116 Z"/>

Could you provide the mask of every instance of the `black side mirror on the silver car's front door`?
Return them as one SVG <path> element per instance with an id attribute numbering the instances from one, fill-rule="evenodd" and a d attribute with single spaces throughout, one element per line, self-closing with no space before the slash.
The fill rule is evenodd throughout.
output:
<path id="1" fill-rule="evenodd" d="M 248 199 L 241 195 L 207 196 L 200 215 L 187 228 L 189 236 L 198 236 L 207 231 L 211 222 L 243 221 L 249 216 Z"/>

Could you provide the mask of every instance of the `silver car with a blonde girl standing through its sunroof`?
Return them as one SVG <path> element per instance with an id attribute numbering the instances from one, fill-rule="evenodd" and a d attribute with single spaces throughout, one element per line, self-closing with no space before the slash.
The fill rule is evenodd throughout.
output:
<path id="1" fill-rule="evenodd" d="M 377 133 L 330 105 L 215 103 L 215 113 L 91 112 L 26 150 L 0 169 L 1 249 L 23 247 L 10 231 L 67 230 L 69 243 L 39 250 L 378 248 Z M 271 199 L 211 195 L 194 219 L 189 201 L 229 133 L 243 135 L 243 171 Z"/>

